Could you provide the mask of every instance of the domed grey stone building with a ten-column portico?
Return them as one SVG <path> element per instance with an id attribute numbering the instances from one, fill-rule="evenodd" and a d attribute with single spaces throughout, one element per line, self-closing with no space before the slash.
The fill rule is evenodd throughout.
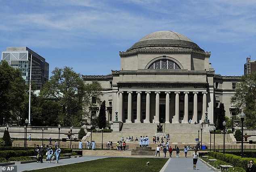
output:
<path id="1" fill-rule="evenodd" d="M 110 122 L 118 111 L 118 121 L 127 123 L 200 123 L 206 115 L 213 123 L 220 103 L 226 116 L 235 115 L 230 99 L 240 77 L 216 75 L 211 53 L 185 35 L 154 32 L 119 54 L 120 70 L 83 75 L 86 83 L 101 83 Z"/>

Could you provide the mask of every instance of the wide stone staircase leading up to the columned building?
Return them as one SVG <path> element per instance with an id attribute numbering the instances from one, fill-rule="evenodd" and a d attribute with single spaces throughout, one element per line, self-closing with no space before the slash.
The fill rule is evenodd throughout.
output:
<path id="1" fill-rule="evenodd" d="M 112 133 L 103 133 L 103 145 L 106 145 L 108 141 L 113 141 L 116 143 L 120 141 L 122 137 L 124 137 L 124 141 L 126 141 L 126 137 L 129 138 L 133 136 L 134 140 L 136 137 L 141 137 L 146 135 L 149 137 L 150 142 L 153 142 L 153 136 L 160 135 L 164 136 L 166 134 L 170 134 L 170 143 L 183 143 L 188 145 L 196 144 L 195 138 L 198 137 L 199 130 L 199 141 L 201 141 L 201 124 L 164 124 L 164 133 L 157 133 L 157 124 L 152 123 L 124 123 L 122 127 L 122 131 L 120 132 L 112 132 Z M 202 143 L 210 144 L 210 132 L 209 129 L 213 128 L 212 125 L 203 127 L 202 130 Z M 92 133 L 92 140 L 96 142 L 102 141 L 102 133 Z M 213 145 L 214 135 L 212 134 L 212 145 Z M 87 137 L 84 141 L 90 141 L 90 137 Z M 165 140 L 166 141 L 166 140 Z M 130 143 L 130 142 L 126 142 Z M 223 134 L 215 134 L 215 143 L 220 144 L 223 143 Z M 233 143 L 229 134 L 225 135 L 225 143 Z M 137 142 L 138 144 L 138 142 Z M 105 146 L 104 146 L 105 147 Z"/>

